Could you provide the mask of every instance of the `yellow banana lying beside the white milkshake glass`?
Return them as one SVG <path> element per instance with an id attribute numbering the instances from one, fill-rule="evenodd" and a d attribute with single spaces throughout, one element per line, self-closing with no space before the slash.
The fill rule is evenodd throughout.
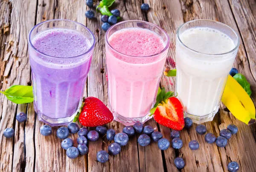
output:
<path id="1" fill-rule="evenodd" d="M 237 119 L 247 125 L 255 122 L 255 106 L 252 99 L 230 75 L 227 78 L 221 101 Z"/>

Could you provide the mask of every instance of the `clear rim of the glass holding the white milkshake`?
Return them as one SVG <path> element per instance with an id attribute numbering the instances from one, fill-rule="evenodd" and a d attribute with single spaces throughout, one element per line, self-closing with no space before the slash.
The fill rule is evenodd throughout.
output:
<path id="1" fill-rule="evenodd" d="M 237 37 L 237 44 L 236 44 L 236 46 L 235 46 L 232 50 L 230 50 L 230 51 L 228 51 L 228 52 L 220 53 L 220 54 L 208 54 L 208 53 L 198 52 L 198 51 L 196 51 L 196 50 L 194 50 L 194 49 L 189 48 L 188 46 L 186 46 L 186 45 L 180 40 L 180 36 L 179 36 L 180 34 L 179 34 L 179 32 L 180 32 L 180 29 L 181 29 L 183 26 L 185 26 L 185 25 L 187 25 L 187 24 L 189 24 L 189 23 L 193 23 L 193 22 L 195 22 L 195 21 L 209 21 L 209 22 L 218 23 L 218 24 L 220 24 L 220 25 L 223 25 L 223 26 L 227 27 L 227 28 L 230 29 L 230 30 L 236 35 L 236 37 Z M 186 23 L 183 23 L 183 24 L 180 25 L 180 27 L 177 29 L 176 36 L 177 36 L 177 38 L 178 38 L 178 39 L 177 39 L 178 42 L 181 43 L 184 47 L 186 47 L 186 49 L 189 49 L 189 50 L 192 51 L 192 52 L 195 52 L 195 53 L 198 53 L 198 54 L 203 54 L 203 55 L 215 56 L 215 55 L 230 54 L 231 52 L 236 51 L 236 49 L 238 49 L 238 47 L 239 47 L 239 45 L 240 45 L 240 38 L 239 38 L 239 35 L 234 31 L 234 29 L 232 29 L 230 26 L 227 26 L 227 25 L 224 24 L 224 23 L 221 23 L 221 22 L 218 22 L 218 21 L 215 21 L 215 20 L 198 19 L 198 20 L 191 20 L 191 21 L 188 21 L 188 22 L 186 22 Z"/>

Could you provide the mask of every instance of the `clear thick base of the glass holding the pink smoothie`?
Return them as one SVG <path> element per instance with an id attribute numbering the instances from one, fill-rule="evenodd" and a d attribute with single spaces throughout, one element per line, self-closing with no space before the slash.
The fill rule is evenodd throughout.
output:
<path id="1" fill-rule="evenodd" d="M 118 121 L 119 123 L 124 124 L 125 126 L 133 126 L 135 123 L 145 123 L 147 120 L 151 119 L 153 115 L 149 116 L 150 113 L 148 113 L 145 116 L 139 117 L 139 118 L 126 118 L 122 115 L 119 115 L 116 112 L 112 112 L 114 116 L 114 120 Z"/>

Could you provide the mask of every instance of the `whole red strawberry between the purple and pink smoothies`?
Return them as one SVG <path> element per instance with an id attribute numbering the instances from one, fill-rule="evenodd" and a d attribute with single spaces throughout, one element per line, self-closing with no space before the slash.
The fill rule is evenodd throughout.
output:
<path id="1" fill-rule="evenodd" d="M 95 127 L 110 123 L 113 115 L 108 107 L 96 97 L 86 97 L 83 100 L 80 113 L 74 118 L 79 119 L 83 126 Z"/>

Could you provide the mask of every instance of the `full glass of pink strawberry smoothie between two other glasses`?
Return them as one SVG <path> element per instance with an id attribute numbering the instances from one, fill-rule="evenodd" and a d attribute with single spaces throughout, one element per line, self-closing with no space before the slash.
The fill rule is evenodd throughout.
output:
<path id="1" fill-rule="evenodd" d="M 114 119 L 126 126 L 151 117 L 166 63 L 169 36 L 160 27 L 139 20 L 108 29 L 106 64 L 108 97 Z"/>

